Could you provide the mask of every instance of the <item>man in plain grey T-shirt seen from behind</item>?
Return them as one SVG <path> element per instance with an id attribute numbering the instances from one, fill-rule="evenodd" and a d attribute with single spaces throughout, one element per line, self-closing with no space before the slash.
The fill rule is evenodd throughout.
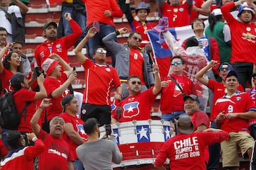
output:
<path id="1" fill-rule="evenodd" d="M 85 169 L 112 169 L 112 162 L 120 164 L 122 161 L 114 135 L 99 139 L 99 125 L 95 118 L 87 119 L 83 125 L 88 140 L 77 147 L 76 152 Z"/>

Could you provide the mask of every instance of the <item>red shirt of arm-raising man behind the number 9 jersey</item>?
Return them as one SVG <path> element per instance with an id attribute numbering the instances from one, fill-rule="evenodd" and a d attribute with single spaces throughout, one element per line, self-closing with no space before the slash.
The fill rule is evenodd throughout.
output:
<path id="1" fill-rule="evenodd" d="M 215 102 L 218 98 L 222 98 L 225 95 L 226 89 L 223 83 L 220 83 L 218 81 L 214 81 L 212 79 L 209 79 L 208 81 L 208 88 L 213 91 L 213 108 L 215 107 Z M 243 92 L 244 89 L 242 88 L 242 85 L 239 84 L 238 91 Z M 216 118 L 217 115 L 214 115 L 213 112 L 210 114 L 210 121 L 213 121 L 214 118 Z"/>

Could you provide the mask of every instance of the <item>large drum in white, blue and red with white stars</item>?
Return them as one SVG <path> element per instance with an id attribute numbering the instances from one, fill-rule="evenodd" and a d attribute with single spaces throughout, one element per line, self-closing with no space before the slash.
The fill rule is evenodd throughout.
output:
<path id="1" fill-rule="evenodd" d="M 112 130 L 123 155 L 122 163 L 113 164 L 113 168 L 154 164 L 161 146 L 175 135 L 174 124 L 164 120 L 116 123 Z M 103 135 L 105 129 L 101 127 L 100 136 Z"/>

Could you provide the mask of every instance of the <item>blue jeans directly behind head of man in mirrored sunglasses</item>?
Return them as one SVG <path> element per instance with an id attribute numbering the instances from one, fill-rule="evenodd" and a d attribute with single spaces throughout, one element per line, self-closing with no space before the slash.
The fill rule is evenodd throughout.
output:
<path id="1" fill-rule="evenodd" d="M 109 35 L 110 33 L 113 33 L 114 31 L 115 31 L 114 26 L 111 26 L 105 23 L 100 23 L 100 33 L 97 33 L 93 38 L 90 38 L 90 40 L 88 41 L 89 56 L 91 60 L 92 60 L 92 54 L 95 48 L 98 46 L 105 46 L 104 43 L 102 42 L 102 38 Z M 117 38 L 115 38 L 115 41 L 117 41 Z M 115 56 L 109 50 L 107 52 L 107 56 L 112 56 L 112 67 L 114 67 Z"/>

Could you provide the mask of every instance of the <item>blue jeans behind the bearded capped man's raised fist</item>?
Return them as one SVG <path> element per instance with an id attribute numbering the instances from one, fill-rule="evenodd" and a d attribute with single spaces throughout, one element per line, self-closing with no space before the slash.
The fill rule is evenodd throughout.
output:
<path id="1" fill-rule="evenodd" d="M 87 18 L 86 18 L 86 15 L 84 13 L 80 13 L 79 11 L 75 11 L 72 7 L 63 6 L 62 16 L 65 13 L 70 13 L 71 18 L 73 18 L 73 20 L 75 20 L 75 22 L 78 23 L 78 25 L 80 26 L 80 28 L 82 30 L 82 35 L 80 36 L 78 42 L 75 43 L 75 46 L 76 46 L 82 40 L 82 38 L 85 38 L 85 35 L 87 34 L 87 32 L 86 32 Z M 65 36 L 70 35 L 71 33 L 73 33 L 73 30 L 70 27 L 70 23 L 68 21 L 66 21 L 64 17 L 63 17 L 63 30 L 64 30 L 64 35 Z"/>

